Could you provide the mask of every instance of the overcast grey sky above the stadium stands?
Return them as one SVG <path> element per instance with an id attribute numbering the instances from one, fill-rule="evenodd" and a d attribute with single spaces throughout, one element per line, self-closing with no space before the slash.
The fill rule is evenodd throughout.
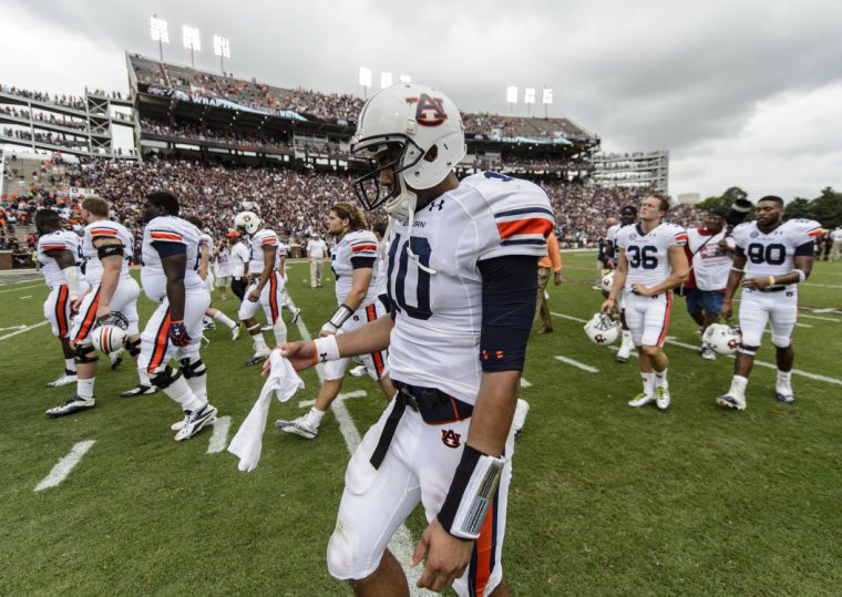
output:
<path id="1" fill-rule="evenodd" d="M 127 91 L 124 51 L 284 86 L 362 94 L 359 68 L 445 91 L 464 111 L 509 114 L 505 88 L 554 90 L 551 116 L 614 152 L 669 150 L 671 195 L 812 198 L 842 191 L 842 3 L 812 1 L 3 0 L 0 82 Z M 377 83 L 376 83 L 377 84 Z M 538 99 L 541 92 L 538 91 Z M 515 106 L 526 114 L 526 106 Z M 543 106 L 532 106 L 543 114 Z"/>

